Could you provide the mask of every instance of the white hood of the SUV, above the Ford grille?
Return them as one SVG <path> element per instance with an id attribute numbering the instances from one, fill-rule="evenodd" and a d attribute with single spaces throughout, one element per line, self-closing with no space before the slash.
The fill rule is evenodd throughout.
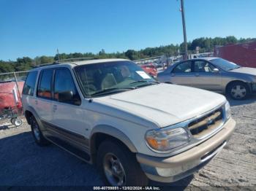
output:
<path id="1" fill-rule="evenodd" d="M 196 117 L 226 101 L 217 93 L 168 84 L 140 87 L 97 99 L 154 122 L 159 128 Z"/>

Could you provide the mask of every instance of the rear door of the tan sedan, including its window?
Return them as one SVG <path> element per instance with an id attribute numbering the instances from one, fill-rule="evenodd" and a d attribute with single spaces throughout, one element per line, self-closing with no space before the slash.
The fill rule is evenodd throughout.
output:
<path id="1" fill-rule="evenodd" d="M 184 61 L 170 72 L 170 82 L 176 85 L 191 85 L 192 61 Z"/>

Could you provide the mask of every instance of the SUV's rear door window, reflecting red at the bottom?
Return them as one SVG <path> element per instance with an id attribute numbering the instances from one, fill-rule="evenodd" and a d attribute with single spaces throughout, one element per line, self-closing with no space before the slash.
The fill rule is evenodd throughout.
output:
<path id="1" fill-rule="evenodd" d="M 42 70 L 37 90 L 37 96 L 40 98 L 51 98 L 51 82 L 53 77 L 53 69 Z"/>

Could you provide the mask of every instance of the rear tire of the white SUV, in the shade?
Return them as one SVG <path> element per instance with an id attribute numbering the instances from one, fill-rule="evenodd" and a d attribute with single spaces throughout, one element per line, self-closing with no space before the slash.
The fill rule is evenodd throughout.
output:
<path id="1" fill-rule="evenodd" d="M 39 128 L 39 125 L 37 123 L 37 120 L 36 118 L 32 115 L 30 118 L 30 126 L 31 126 L 31 132 L 32 132 L 32 135 L 34 137 L 34 141 L 40 146 L 40 147 L 43 147 L 43 146 L 47 146 L 48 144 L 50 144 L 50 142 L 45 139 L 45 137 L 42 135 L 42 132 Z"/>

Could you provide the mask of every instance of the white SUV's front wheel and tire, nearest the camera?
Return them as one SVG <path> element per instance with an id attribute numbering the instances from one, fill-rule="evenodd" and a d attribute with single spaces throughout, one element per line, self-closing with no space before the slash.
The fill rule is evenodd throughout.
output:
<path id="1" fill-rule="evenodd" d="M 108 186 L 146 186 L 148 184 L 148 178 L 141 170 L 135 155 L 118 141 L 103 141 L 99 145 L 97 168 Z M 113 173 L 113 171 L 116 172 Z M 116 178 L 117 176 L 113 174 L 118 174 L 121 178 Z"/>

